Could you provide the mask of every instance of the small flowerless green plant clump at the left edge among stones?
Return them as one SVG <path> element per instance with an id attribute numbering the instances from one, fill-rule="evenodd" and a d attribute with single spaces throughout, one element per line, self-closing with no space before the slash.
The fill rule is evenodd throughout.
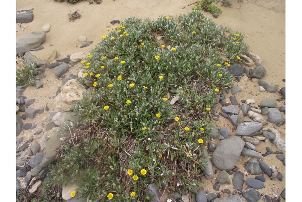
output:
<path id="1" fill-rule="evenodd" d="M 28 63 L 23 59 L 22 65 L 24 65 L 24 68 L 17 71 L 16 85 L 34 85 L 36 63 Z"/>

